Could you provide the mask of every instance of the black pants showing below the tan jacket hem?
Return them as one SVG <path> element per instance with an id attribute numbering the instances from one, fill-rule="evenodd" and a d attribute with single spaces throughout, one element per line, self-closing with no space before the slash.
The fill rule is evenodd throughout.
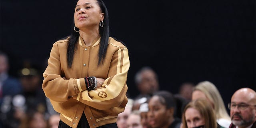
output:
<path id="1" fill-rule="evenodd" d="M 71 128 L 71 127 L 60 120 L 58 128 Z M 82 117 L 78 122 L 77 128 L 90 128 L 89 123 L 88 123 L 84 113 L 82 114 Z M 106 124 L 103 126 L 99 126 L 97 128 L 117 128 L 117 125 L 116 125 L 116 123 L 112 123 L 112 124 Z"/>

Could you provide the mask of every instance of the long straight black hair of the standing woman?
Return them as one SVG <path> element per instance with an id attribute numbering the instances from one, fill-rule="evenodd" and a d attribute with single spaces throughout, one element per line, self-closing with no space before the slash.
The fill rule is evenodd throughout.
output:
<path id="1" fill-rule="evenodd" d="M 100 49 L 98 51 L 98 65 L 103 64 L 104 59 L 106 57 L 106 52 L 107 52 L 107 47 L 108 47 L 108 38 L 109 38 L 109 26 L 108 26 L 108 10 L 105 6 L 105 3 L 102 0 L 97 0 L 98 5 L 100 6 L 100 9 L 102 13 L 104 13 L 104 26 L 100 27 Z M 74 53 L 76 52 L 77 48 L 77 42 L 79 39 L 79 32 L 74 31 L 74 18 L 73 18 L 73 27 L 72 27 L 72 32 L 71 36 L 69 38 L 69 43 L 68 43 L 68 50 L 67 50 L 67 62 L 68 62 L 68 67 L 71 68 L 73 58 L 74 58 Z"/>

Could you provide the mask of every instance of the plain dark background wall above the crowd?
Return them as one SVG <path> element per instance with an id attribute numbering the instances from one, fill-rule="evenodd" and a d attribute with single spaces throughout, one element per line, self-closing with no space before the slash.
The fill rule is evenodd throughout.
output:
<path id="1" fill-rule="evenodd" d="M 128 92 L 134 74 L 158 73 L 160 89 L 178 93 L 183 82 L 209 80 L 224 102 L 238 88 L 256 89 L 255 0 L 104 0 L 110 35 L 130 52 Z M 28 60 L 44 70 L 52 44 L 73 29 L 74 0 L 1 0 L 0 50 L 10 74 Z"/>

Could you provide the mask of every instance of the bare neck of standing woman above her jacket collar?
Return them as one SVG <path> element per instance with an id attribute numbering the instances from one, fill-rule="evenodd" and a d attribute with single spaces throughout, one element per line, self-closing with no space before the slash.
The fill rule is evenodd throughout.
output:
<path id="1" fill-rule="evenodd" d="M 99 36 L 99 29 L 83 29 L 80 30 L 79 34 L 84 40 L 85 46 L 90 46 L 92 42 Z"/>

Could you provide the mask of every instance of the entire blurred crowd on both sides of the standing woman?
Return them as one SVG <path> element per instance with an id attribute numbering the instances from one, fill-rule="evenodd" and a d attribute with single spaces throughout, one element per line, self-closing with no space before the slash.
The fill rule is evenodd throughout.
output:
<path id="1" fill-rule="evenodd" d="M 0 128 L 58 128 L 60 114 L 42 91 L 40 70 L 26 66 L 15 79 L 8 75 L 8 57 L 1 53 L 0 60 Z M 139 70 L 134 80 L 140 94 L 128 96 L 118 128 L 256 128 L 256 92 L 250 88 L 234 92 L 229 113 L 209 81 L 184 83 L 172 94 L 159 90 L 150 67 Z"/>

